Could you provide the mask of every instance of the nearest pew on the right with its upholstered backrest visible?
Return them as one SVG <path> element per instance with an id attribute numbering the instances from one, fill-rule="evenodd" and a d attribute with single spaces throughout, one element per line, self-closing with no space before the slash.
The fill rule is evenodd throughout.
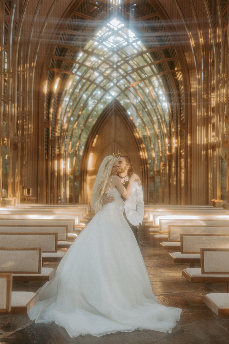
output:
<path id="1" fill-rule="evenodd" d="M 201 248 L 201 268 L 184 269 L 182 276 L 191 283 L 227 283 L 229 292 L 229 249 Z"/>

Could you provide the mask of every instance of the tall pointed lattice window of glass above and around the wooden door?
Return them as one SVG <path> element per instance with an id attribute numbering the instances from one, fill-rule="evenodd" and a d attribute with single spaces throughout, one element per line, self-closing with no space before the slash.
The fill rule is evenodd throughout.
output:
<path id="1" fill-rule="evenodd" d="M 101 28 L 78 53 L 72 68 L 75 77 L 65 88 L 62 105 L 65 118 L 62 126 L 65 122 L 68 126 L 66 147 L 70 168 L 75 168 L 76 174 L 92 126 L 114 99 L 138 127 L 146 146 L 150 175 L 154 154 L 154 168 L 159 169 L 159 162 L 164 160 L 159 147 L 165 150 L 164 136 L 168 136 L 170 116 L 158 64 L 155 64 L 157 59 L 161 59 L 160 54 L 148 53 L 135 33 L 117 18 Z M 160 70 L 166 68 L 161 62 Z"/>

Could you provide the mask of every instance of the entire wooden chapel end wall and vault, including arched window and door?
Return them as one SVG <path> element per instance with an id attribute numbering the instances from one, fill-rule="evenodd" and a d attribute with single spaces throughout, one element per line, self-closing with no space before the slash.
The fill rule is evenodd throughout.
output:
<path id="1" fill-rule="evenodd" d="M 89 204 L 101 161 L 119 150 L 146 204 L 228 206 L 228 0 L 0 6 L 8 198 Z"/>

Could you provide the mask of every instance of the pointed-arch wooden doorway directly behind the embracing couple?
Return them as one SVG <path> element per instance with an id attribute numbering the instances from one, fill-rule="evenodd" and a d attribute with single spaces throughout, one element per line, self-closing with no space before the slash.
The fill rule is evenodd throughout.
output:
<path id="1" fill-rule="evenodd" d="M 130 157 L 142 180 L 145 203 L 148 203 L 149 166 L 139 130 L 121 104 L 114 100 L 99 116 L 85 144 L 80 165 L 80 199 L 88 204 L 99 166 L 107 155 L 121 152 Z"/>

